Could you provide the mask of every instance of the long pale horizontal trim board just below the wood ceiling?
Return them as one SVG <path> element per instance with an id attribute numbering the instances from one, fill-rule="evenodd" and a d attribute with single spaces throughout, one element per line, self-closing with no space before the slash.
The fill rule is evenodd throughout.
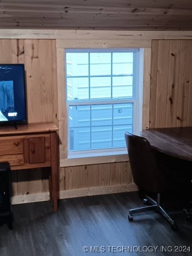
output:
<path id="1" fill-rule="evenodd" d="M 0 39 L 192 39 L 192 31 L 0 29 Z"/>

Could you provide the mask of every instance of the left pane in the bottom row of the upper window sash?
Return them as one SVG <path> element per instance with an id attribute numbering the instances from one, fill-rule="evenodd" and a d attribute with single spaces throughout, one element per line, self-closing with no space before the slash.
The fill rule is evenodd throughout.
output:
<path id="1" fill-rule="evenodd" d="M 89 98 L 89 78 L 77 77 L 67 78 L 67 100 L 78 100 Z"/>

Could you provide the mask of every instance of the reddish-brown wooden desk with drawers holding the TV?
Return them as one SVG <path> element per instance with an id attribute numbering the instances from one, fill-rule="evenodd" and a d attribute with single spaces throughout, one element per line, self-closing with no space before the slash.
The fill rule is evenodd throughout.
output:
<path id="1" fill-rule="evenodd" d="M 53 123 L 0 127 L 0 162 L 9 162 L 11 170 L 51 167 L 50 199 L 58 210 L 58 127 Z"/>

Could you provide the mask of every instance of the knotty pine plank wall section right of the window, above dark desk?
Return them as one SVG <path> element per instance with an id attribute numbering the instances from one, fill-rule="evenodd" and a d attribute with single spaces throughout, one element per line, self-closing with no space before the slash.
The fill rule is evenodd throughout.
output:
<path id="1" fill-rule="evenodd" d="M 152 40 L 149 128 L 192 126 L 192 40 Z"/>

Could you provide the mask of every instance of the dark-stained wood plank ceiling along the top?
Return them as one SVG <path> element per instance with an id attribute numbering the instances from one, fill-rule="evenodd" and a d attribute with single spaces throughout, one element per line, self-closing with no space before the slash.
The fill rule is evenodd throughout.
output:
<path id="1" fill-rule="evenodd" d="M 192 30 L 192 0 L 0 0 L 0 29 Z"/>

